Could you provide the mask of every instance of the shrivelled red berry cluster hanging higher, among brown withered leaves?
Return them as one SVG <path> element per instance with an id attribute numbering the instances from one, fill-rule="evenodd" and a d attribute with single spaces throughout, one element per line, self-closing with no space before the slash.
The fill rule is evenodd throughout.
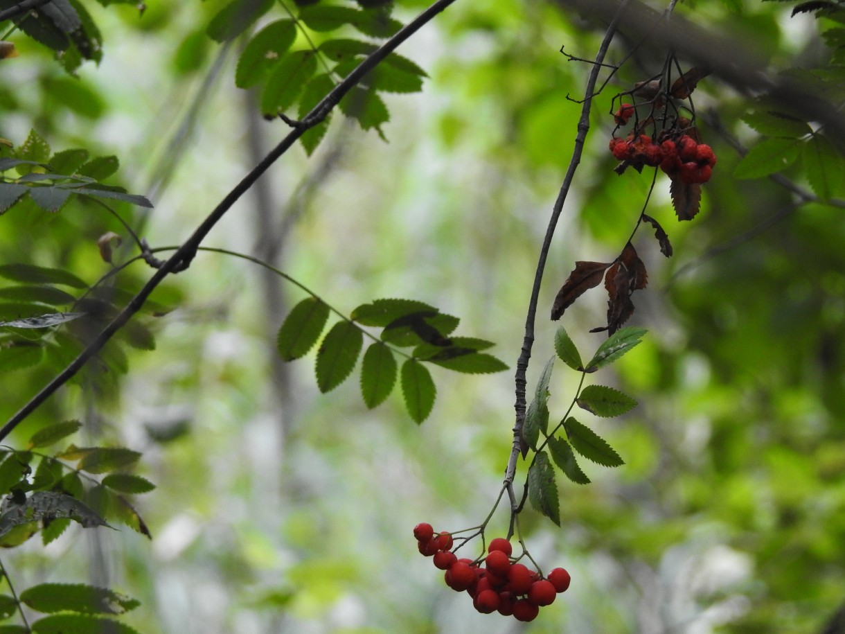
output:
<path id="1" fill-rule="evenodd" d="M 618 125 L 628 123 L 634 114 L 634 107 L 624 103 L 613 115 Z M 660 167 L 669 178 L 682 183 L 706 183 L 716 165 L 716 155 L 710 145 L 699 143 L 689 134 L 665 129 L 657 140 L 647 134 L 630 133 L 625 139 L 613 137 L 609 149 L 614 158 L 627 161 L 641 169 L 643 166 Z"/>

